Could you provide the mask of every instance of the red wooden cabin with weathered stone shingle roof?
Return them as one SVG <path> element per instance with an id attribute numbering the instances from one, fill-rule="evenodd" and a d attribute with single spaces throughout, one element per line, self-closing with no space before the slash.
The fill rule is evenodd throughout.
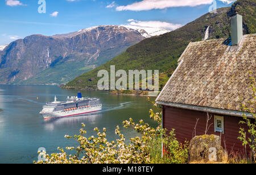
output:
<path id="1" fill-rule="evenodd" d="M 241 104 L 254 107 L 255 113 L 255 104 L 247 103 L 253 99 L 250 76 L 256 77 L 256 34 L 242 35 L 236 45 L 230 45 L 230 39 L 189 43 L 178 63 L 156 98 L 163 106 L 163 127 L 174 128 L 180 142 L 189 141 L 195 131 L 205 134 L 208 113 L 212 118 L 207 134 L 221 135 L 222 146 L 229 152 L 242 152 L 237 139 L 240 127 L 246 128 L 239 124 Z"/>

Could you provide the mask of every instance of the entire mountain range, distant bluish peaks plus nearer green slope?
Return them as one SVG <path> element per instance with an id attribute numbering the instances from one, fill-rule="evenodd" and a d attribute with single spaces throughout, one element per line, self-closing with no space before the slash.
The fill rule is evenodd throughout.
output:
<path id="1" fill-rule="evenodd" d="M 191 41 L 230 37 L 230 16 L 243 15 L 244 34 L 256 32 L 254 0 L 238 0 L 174 31 L 165 28 L 96 26 L 68 34 L 31 35 L 0 46 L 0 84 L 67 84 L 97 89 L 98 70 L 159 70 L 160 88 Z M 70 81 L 70 82 L 69 82 Z"/>

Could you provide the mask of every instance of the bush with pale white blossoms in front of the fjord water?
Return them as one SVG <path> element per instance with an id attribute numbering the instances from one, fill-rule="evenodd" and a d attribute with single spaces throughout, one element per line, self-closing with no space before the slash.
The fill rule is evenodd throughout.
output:
<path id="1" fill-rule="evenodd" d="M 149 98 L 148 98 L 149 100 Z M 155 110 L 160 110 L 157 108 L 154 102 L 151 102 L 154 105 Z M 74 139 L 79 143 L 78 147 L 66 147 L 67 150 L 76 150 L 75 155 L 67 155 L 64 152 L 63 148 L 58 148 L 60 153 L 52 153 L 51 155 L 46 155 L 46 160 L 34 161 L 37 164 L 147 164 L 152 163 L 156 157 L 152 156 L 152 140 L 160 138 L 158 141 L 162 144 L 162 136 L 164 130 L 162 129 L 162 114 L 150 110 L 150 118 L 155 120 L 158 123 L 158 127 L 152 128 L 147 123 L 144 123 L 143 120 L 140 120 L 139 123 L 134 123 L 133 119 L 129 119 L 123 122 L 123 127 L 132 128 L 137 131 L 141 136 L 130 139 L 130 144 L 125 144 L 125 136 L 121 134 L 119 126 L 115 129 L 115 134 L 119 136 L 119 139 L 116 141 L 108 141 L 106 139 L 106 128 L 103 128 L 102 132 L 98 128 L 94 128 L 94 131 L 97 132 L 97 137 L 90 136 L 89 138 L 85 137 L 85 124 L 82 123 L 82 128 L 80 129 L 80 135 L 68 136 L 65 135 L 65 138 Z M 174 135 L 172 137 L 172 143 L 174 142 Z M 170 138 L 168 138 L 170 140 Z M 166 141 L 168 141 L 168 139 Z M 176 140 L 176 139 L 175 139 Z M 178 142 L 175 142 L 175 145 Z M 168 144 L 167 144 L 168 145 Z M 179 144 L 177 144 L 179 147 Z M 181 148 L 181 147 L 180 147 Z M 175 149 L 180 149 L 176 148 Z M 160 149 L 160 151 L 162 151 Z M 179 152 L 179 151 L 178 151 Z M 175 153 L 175 152 L 172 152 Z M 180 152 L 179 152 L 180 153 Z M 182 154 L 182 153 L 180 153 Z M 159 153 L 158 153 L 159 155 Z M 158 156 L 159 158 L 159 156 Z M 174 158 L 174 156 L 170 157 Z M 182 156 L 175 157 L 175 163 L 183 163 L 183 159 L 177 161 Z M 168 163 L 170 163 L 168 161 Z"/>

